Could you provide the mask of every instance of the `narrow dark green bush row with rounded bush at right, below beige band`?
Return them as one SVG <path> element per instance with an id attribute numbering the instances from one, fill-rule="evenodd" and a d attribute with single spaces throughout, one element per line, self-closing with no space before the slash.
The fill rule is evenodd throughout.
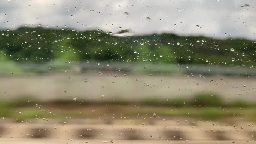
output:
<path id="1" fill-rule="evenodd" d="M 191 97 L 179 96 L 171 99 L 162 99 L 150 97 L 140 99 L 136 102 L 124 101 L 122 99 L 106 100 L 106 101 L 89 101 L 79 99 L 72 101 L 70 99 L 54 99 L 52 101 L 40 101 L 32 96 L 19 96 L 12 100 L 1 100 L 0 108 L 6 107 L 30 107 L 36 104 L 40 105 L 60 105 L 80 107 L 86 105 L 149 105 L 149 106 L 170 106 L 170 107 L 256 107 L 256 102 L 246 101 L 243 99 L 235 99 L 233 101 L 223 101 L 223 96 L 211 94 L 207 92 L 198 93 Z"/>

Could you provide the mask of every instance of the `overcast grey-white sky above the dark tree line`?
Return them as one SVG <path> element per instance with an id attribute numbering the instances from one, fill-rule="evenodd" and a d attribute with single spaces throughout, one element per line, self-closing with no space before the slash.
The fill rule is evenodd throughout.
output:
<path id="1" fill-rule="evenodd" d="M 0 0 L 0 29 L 41 24 L 115 33 L 122 27 L 134 34 L 256 40 L 255 7 L 256 0 Z"/>

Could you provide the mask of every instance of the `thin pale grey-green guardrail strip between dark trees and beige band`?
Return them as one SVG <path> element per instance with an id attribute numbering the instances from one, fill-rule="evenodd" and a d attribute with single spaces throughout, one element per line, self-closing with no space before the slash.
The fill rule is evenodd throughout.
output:
<path id="1" fill-rule="evenodd" d="M 187 73 L 187 74 L 216 74 L 216 75 L 242 75 L 255 76 L 256 68 L 225 65 L 189 65 L 189 64 L 150 64 L 130 62 L 48 62 L 14 63 L 2 62 L 0 73 L 50 73 L 69 71 L 83 73 L 88 71 L 121 71 L 126 73 Z"/>

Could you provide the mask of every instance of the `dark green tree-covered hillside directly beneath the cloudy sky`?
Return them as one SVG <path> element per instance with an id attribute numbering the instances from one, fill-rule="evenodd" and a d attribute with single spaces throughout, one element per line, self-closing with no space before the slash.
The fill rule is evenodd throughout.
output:
<path id="1" fill-rule="evenodd" d="M 252 66 L 255 48 L 256 42 L 251 40 L 165 33 L 117 37 L 101 31 L 41 27 L 0 31 L 0 62 L 95 60 Z"/>

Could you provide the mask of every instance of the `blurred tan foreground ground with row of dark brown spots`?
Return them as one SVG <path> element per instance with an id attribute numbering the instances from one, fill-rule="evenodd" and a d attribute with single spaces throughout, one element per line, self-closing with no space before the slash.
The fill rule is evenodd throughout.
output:
<path id="1" fill-rule="evenodd" d="M 230 119 L 226 122 L 199 121 L 179 117 L 177 119 L 131 119 L 119 120 L 27 120 L 10 123 L 1 120 L 1 144 L 23 143 L 189 143 L 229 144 L 255 143 L 255 123 Z"/>

